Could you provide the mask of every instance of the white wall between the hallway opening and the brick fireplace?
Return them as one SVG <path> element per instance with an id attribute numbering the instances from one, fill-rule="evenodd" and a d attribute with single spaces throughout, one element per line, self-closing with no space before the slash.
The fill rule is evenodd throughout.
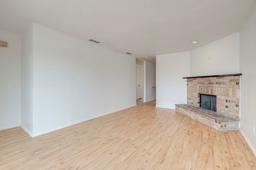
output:
<path id="1" fill-rule="evenodd" d="M 190 52 L 156 56 L 156 107 L 175 109 L 175 104 L 187 103 Z"/>

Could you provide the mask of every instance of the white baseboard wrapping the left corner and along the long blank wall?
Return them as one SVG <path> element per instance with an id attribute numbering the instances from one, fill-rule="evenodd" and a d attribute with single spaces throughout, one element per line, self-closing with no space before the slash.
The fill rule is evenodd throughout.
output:
<path id="1" fill-rule="evenodd" d="M 68 123 L 66 125 L 62 125 L 62 126 L 59 126 L 59 127 L 51 128 L 51 129 L 44 130 L 44 131 L 41 131 L 41 132 L 37 132 L 37 133 L 34 133 L 34 134 L 32 134 L 26 127 L 24 127 L 22 125 L 20 125 L 20 126 L 33 138 L 33 137 L 36 137 L 36 136 L 40 136 L 42 134 L 53 132 L 55 130 L 59 130 L 59 129 L 66 128 L 66 127 L 69 127 L 69 126 L 72 126 L 72 125 L 76 125 L 78 123 L 82 123 L 84 121 L 88 121 L 88 120 L 94 119 L 96 117 L 101 117 L 101 116 L 104 116 L 104 115 L 108 115 L 108 114 L 111 114 L 111 113 L 114 113 L 114 112 L 117 112 L 117 111 L 121 111 L 121 110 L 124 110 L 124 109 L 128 109 L 128 108 L 134 107 L 134 106 L 136 106 L 136 105 L 131 105 L 131 106 L 128 106 L 128 107 L 125 107 L 125 108 L 117 109 L 117 110 L 114 110 L 114 111 L 111 111 L 111 112 L 106 112 L 106 113 L 103 113 L 103 114 L 100 114 L 100 115 L 96 115 L 96 116 L 93 116 L 93 117 L 88 117 L 86 119 L 82 119 L 82 120 L 79 120 L 79 121 L 76 121 L 76 122 Z"/>

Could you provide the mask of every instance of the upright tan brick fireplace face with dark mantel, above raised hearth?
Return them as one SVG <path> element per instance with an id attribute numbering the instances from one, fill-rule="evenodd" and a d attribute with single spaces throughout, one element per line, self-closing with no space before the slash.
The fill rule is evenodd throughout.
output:
<path id="1" fill-rule="evenodd" d="M 216 112 L 239 118 L 240 75 L 184 77 L 187 79 L 187 104 L 200 107 L 200 94 L 216 96 Z"/>

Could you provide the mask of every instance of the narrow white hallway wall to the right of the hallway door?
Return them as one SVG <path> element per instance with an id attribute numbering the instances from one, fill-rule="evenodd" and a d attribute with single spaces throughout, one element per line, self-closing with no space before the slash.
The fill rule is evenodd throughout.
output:
<path id="1" fill-rule="evenodd" d="M 144 61 L 144 97 L 143 102 L 148 102 L 156 99 L 156 64 Z"/>

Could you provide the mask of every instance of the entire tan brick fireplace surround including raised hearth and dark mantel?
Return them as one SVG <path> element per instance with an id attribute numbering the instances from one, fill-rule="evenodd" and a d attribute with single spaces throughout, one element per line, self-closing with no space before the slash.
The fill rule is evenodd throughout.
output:
<path id="1" fill-rule="evenodd" d="M 238 130 L 240 121 L 240 75 L 183 77 L 187 79 L 187 104 L 176 110 L 220 131 Z M 200 94 L 216 95 L 216 112 L 200 106 Z"/>

